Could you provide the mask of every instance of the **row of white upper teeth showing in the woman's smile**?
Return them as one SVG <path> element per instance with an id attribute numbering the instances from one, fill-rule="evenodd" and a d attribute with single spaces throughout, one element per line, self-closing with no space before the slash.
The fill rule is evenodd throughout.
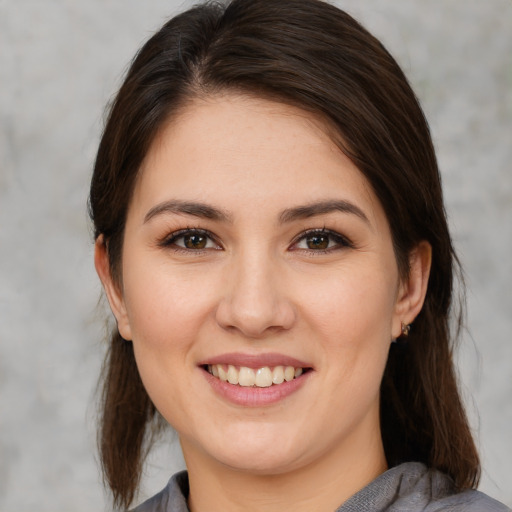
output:
<path id="1" fill-rule="evenodd" d="M 224 382 L 238 384 L 239 386 L 268 388 L 272 384 L 282 384 L 284 381 L 291 381 L 302 375 L 302 368 L 293 366 L 276 366 L 269 368 L 264 366 L 257 370 L 246 366 L 236 367 L 233 365 L 210 364 L 208 371 Z"/>

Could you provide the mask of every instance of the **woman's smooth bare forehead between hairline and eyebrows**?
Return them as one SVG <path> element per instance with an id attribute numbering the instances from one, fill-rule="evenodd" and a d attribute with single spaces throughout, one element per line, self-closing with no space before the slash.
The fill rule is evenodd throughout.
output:
<path id="1" fill-rule="evenodd" d="M 365 203 L 368 216 L 375 216 L 378 200 L 329 128 L 311 113 L 266 99 L 230 94 L 195 100 L 156 137 L 134 203 L 147 207 L 171 195 L 214 200 L 227 209 L 277 208 L 334 195 Z"/>

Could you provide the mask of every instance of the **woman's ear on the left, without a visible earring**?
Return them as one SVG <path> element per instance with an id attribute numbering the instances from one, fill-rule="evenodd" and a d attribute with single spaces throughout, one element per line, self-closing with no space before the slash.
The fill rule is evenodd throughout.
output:
<path id="1" fill-rule="evenodd" d="M 108 250 L 103 235 L 100 235 L 96 239 L 96 243 L 94 245 L 94 266 L 96 267 L 96 272 L 103 284 L 103 289 L 107 295 L 110 309 L 116 317 L 119 334 L 125 340 L 131 340 L 132 333 L 128 314 L 126 312 L 123 291 L 112 278 Z"/>

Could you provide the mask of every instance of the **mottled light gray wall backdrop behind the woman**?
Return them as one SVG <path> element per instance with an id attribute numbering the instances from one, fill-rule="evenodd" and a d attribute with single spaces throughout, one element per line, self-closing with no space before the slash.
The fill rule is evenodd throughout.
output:
<path id="1" fill-rule="evenodd" d="M 510 505 L 512 2 L 338 4 L 382 38 L 430 120 L 469 285 L 461 377 L 481 488 Z M 88 180 L 127 62 L 186 5 L 0 0 L 0 512 L 106 507 L 94 433 L 105 307 Z M 142 497 L 180 467 L 168 446 Z"/>

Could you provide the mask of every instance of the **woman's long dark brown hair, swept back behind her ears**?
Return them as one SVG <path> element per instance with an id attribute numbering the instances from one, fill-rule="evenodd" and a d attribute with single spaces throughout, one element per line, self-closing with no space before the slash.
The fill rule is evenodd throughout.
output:
<path id="1" fill-rule="evenodd" d="M 94 167 L 90 215 L 120 283 L 123 231 L 138 170 L 163 124 L 200 95 L 234 90 L 326 119 L 380 199 L 398 266 L 421 240 L 433 261 L 407 344 L 392 344 L 381 386 L 389 466 L 420 461 L 475 487 L 478 454 L 458 393 L 449 329 L 457 259 L 428 124 L 398 64 L 359 23 L 319 0 L 207 3 L 142 47 L 113 102 Z M 460 326 L 460 312 L 456 315 Z M 133 500 L 158 417 L 133 346 L 113 333 L 103 377 L 100 451 L 114 502 Z"/>

